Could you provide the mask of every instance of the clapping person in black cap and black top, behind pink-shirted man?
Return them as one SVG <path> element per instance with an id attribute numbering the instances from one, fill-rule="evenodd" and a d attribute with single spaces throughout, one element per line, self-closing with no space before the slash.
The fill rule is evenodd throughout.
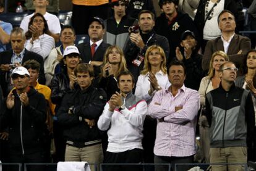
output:
<path id="1" fill-rule="evenodd" d="M 187 77 L 184 84 L 188 88 L 198 90 L 200 81 L 203 77 L 202 55 L 198 54 L 195 46 L 197 40 L 192 31 L 186 30 L 181 35 L 181 48 L 176 48 L 176 59 L 183 62 L 186 66 Z"/>

